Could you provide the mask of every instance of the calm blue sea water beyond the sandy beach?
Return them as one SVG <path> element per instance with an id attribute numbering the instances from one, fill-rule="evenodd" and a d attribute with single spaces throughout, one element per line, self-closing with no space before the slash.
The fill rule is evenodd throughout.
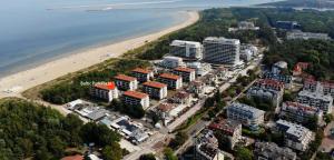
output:
<path id="1" fill-rule="evenodd" d="M 178 11 L 274 0 L 1 0 L 0 77 L 168 28 Z"/>

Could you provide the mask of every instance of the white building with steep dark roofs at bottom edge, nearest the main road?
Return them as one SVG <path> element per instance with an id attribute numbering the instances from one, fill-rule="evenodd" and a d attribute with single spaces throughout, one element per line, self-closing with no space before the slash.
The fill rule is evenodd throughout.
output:
<path id="1" fill-rule="evenodd" d="M 223 152 L 218 149 L 218 140 L 212 130 L 203 130 L 195 144 L 194 160 L 224 160 Z"/>

